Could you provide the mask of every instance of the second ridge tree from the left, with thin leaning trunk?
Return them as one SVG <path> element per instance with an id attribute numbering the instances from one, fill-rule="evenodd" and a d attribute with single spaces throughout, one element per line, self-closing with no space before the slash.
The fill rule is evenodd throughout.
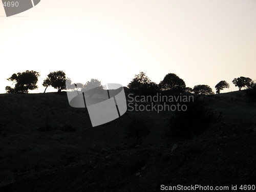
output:
<path id="1" fill-rule="evenodd" d="M 66 89 L 66 74 L 63 71 L 55 71 L 48 74 L 48 77 L 44 80 L 42 85 L 46 87 L 52 86 L 58 89 L 58 93 Z M 45 91 L 46 91 L 45 89 Z"/>

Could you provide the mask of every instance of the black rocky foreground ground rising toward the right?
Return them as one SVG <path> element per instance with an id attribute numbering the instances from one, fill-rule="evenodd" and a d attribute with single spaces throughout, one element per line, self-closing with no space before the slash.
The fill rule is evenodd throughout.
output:
<path id="1" fill-rule="evenodd" d="M 193 140 L 102 150 L 66 167 L 25 174 L 5 191 L 161 191 L 174 185 L 255 185 L 256 127 L 214 124 Z"/>

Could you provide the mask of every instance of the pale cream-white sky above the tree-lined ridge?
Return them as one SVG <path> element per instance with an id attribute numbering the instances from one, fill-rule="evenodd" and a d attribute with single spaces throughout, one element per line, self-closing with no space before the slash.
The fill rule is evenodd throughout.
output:
<path id="1" fill-rule="evenodd" d="M 141 71 L 156 83 L 175 73 L 187 87 L 226 80 L 223 92 L 236 91 L 233 78 L 256 80 L 256 1 L 41 0 L 10 17 L 0 4 L 0 65 L 0 93 L 26 70 L 40 73 L 30 93 L 58 70 L 123 86 Z"/>

